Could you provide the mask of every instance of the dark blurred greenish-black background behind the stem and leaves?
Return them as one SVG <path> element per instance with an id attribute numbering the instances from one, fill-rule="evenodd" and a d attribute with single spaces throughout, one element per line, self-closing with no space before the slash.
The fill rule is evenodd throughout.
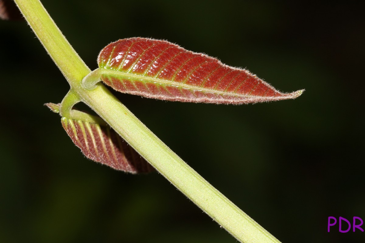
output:
<path id="1" fill-rule="evenodd" d="M 365 220 L 362 6 L 42 2 L 92 70 L 108 43 L 141 36 L 247 67 L 284 92 L 306 89 L 241 106 L 118 98 L 281 242 L 364 242 L 365 232 L 327 232 L 328 216 Z M 236 242 L 158 173 L 87 160 L 43 106 L 69 86 L 34 33 L 0 21 L 0 37 L 0 242 Z"/>

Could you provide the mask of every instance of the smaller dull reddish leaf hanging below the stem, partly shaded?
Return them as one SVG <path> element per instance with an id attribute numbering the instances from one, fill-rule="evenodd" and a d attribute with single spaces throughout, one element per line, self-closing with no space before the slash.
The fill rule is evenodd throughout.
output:
<path id="1" fill-rule="evenodd" d="M 45 104 L 59 113 L 60 104 Z M 154 168 L 127 144 L 100 117 L 72 110 L 72 118 L 62 117 L 61 122 L 74 144 L 89 159 L 130 173 L 147 173 Z"/>

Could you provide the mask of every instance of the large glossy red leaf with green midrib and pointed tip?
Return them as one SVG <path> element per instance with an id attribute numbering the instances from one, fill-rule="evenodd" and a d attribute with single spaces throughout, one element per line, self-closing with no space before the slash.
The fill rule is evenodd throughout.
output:
<path id="1" fill-rule="evenodd" d="M 123 93 L 169 101 L 245 104 L 293 99 L 245 69 L 165 40 L 128 38 L 101 50 L 101 80 Z"/>

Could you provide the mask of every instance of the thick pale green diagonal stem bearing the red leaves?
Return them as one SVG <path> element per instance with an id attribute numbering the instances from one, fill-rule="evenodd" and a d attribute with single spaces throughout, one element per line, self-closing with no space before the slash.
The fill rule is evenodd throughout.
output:
<path id="1" fill-rule="evenodd" d="M 158 139 L 104 85 L 81 86 L 90 72 L 39 0 L 15 0 L 31 28 L 68 80 L 71 89 L 175 187 L 240 242 L 279 243 Z"/>

